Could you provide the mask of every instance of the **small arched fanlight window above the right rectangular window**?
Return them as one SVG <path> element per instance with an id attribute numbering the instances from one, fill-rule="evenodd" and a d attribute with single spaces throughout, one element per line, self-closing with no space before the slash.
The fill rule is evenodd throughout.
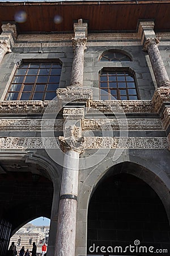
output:
<path id="1" fill-rule="evenodd" d="M 103 52 L 100 61 L 131 61 L 131 58 L 125 53 L 111 49 Z"/>

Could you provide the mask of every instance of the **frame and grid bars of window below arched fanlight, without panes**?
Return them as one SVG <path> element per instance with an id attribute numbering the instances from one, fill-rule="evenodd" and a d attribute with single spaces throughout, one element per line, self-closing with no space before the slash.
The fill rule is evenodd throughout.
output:
<path id="1" fill-rule="evenodd" d="M 117 80 L 117 75 L 115 75 L 116 77 L 116 80 L 115 81 L 109 81 L 109 76 L 113 76 L 112 74 L 111 75 L 106 75 L 107 77 L 107 80 L 104 81 L 105 83 L 107 83 L 107 87 L 101 87 L 101 80 L 100 80 L 100 77 L 101 77 L 101 74 L 102 72 L 124 72 L 125 73 L 128 73 L 129 76 L 133 77 L 133 81 L 131 82 L 134 82 L 134 87 L 128 87 L 128 81 L 125 79 L 125 81 L 118 81 Z M 126 77 L 126 75 L 125 75 Z M 113 89 L 111 89 L 111 85 L 110 83 L 111 82 L 114 82 L 116 84 L 116 87 L 114 87 Z M 118 83 L 119 82 L 125 82 L 125 87 L 122 87 L 122 88 L 119 88 L 118 86 Z M 129 81 L 130 82 L 130 81 Z M 116 100 L 140 100 L 140 97 L 139 97 L 139 90 L 138 90 L 138 84 L 137 84 L 137 79 L 136 79 L 136 76 L 135 76 L 135 72 L 133 71 L 133 69 L 131 68 L 128 68 L 128 67 L 104 67 L 102 68 L 100 71 L 99 71 L 99 89 L 100 89 L 100 93 L 99 93 L 99 97 L 100 97 L 100 100 L 102 100 L 102 96 L 104 97 L 105 96 L 108 96 L 108 98 L 106 100 L 113 100 L 113 97 L 114 99 Z M 101 90 L 103 89 L 107 89 L 107 93 L 106 94 L 101 94 Z M 129 94 L 129 89 L 135 89 L 136 91 L 136 94 Z M 116 90 L 116 94 L 113 94 L 111 91 L 112 90 Z M 121 90 L 126 90 L 126 94 L 125 95 L 121 95 Z M 127 97 L 126 99 L 121 99 L 121 96 L 125 96 Z M 129 96 L 137 96 L 137 99 L 130 99 Z M 117 98 L 116 98 L 117 97 Z"/>

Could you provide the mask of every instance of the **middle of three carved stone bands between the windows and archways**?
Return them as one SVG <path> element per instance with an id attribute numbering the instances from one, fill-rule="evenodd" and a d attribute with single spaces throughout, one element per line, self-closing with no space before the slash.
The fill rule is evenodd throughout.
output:
<path id="1" fill-rule="evenodd" d="M 78 110 L 78 109 L 76 109 Z M 112 127 L 113 130 L 124 129 L 124 119 L 100 118 L 83 119 L 82 115 L 71 115 L 69 120 L 82 119 L 82 130 L 101 131 Z M 170 118 L 170 108 L 164 111 L 163 125 L 166 129 Z M 129 118 L 128 130 L 163 130 L 162 122 L 158 118 Z M 166 125 L 167 124 L 167 125 Z M 64 119 L 0 119 L 1 131 L 63 131 Z M 126 128 L 126 125 L 125 125 Z"/>

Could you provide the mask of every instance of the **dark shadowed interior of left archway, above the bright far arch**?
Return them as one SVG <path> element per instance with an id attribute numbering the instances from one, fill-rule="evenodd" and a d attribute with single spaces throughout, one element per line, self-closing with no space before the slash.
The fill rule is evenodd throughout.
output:
<path id="1" fill-rule="evenodd" d="M 0 174 L 0 255 L 27 222 L 51 216 L 53 183 L 38 164 L 7 163 Z"/>

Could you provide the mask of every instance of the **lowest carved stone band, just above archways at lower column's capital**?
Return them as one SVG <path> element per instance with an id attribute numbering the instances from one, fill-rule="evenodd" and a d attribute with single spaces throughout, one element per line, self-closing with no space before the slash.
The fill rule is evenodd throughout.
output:
<path id="1" fill-rule="evenodd" d="M 169 138 L 169 137 L 168 137 Z M 66 138 L 67 139 L 67 138 Z M 68 144 L 68 150 L 70 147 L 80 146 L 80 150 L 84 148 L 140 148 L 140 149 L 161 149 L 167 148 L 167 138 L 166 137 L 128 137 L 128 138 L 118 138 L 118 137 L 85 137 L 80 138 L 78 141 L 67 141 L 63 137 L 5 137 L 0 138 L 0 148 L 1 149 L 11 149 L 11 150 L 23 150 L 23 149 L 39 149 L 39 148 L 59 148 L 60 143 Z M 83 142 L 84 139 L 84 142 Z M 76 145 L 76 143 L 78 143 Z M 83 146 L 82 146 L 83 144 Z M 67 145 L 66 145 L 67 147 Z"/>

